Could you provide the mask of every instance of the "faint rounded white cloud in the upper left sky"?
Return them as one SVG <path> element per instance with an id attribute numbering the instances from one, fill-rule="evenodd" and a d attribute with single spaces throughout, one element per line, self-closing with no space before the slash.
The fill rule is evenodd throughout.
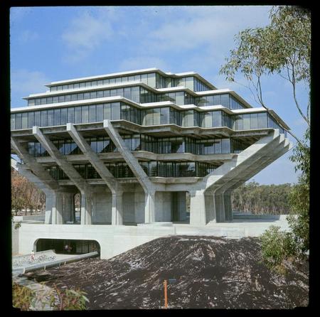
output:
<path id="1" fill-rule="evenodd" d="M 89 11 L 73 18 L 69 28 L 62 34 L 68 47 L 67 60 L 78 62 L 86 58 L 92 50 L 112 38 L 112 24 L 108 14 L 94 15 Z"/>

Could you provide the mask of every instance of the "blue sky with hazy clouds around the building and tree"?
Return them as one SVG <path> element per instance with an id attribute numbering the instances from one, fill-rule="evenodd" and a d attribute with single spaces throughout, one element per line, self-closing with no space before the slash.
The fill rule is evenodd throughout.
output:
<path id="1" fill-rule="evenodd" d="M 109 72 L 160 68 L 199 72 L 218 88 L 238 92 L 253 107 L 250 90 L 218 75 L 234 36 L 269 23 L 270 6 L 78 6 L 11 8 L 11 107 L 26 106 L 31 93 L 55 80 Z M 239 82 L 245 81 L 239 78 Z M 306 125 L 294 106 L 289 82 L 263 82 L 265 104 L 297 136 Z M 306 109 L 305 87 L 298 87 Z M 292 151 L 258 173 L 262 184 L 295 183 Z"/>

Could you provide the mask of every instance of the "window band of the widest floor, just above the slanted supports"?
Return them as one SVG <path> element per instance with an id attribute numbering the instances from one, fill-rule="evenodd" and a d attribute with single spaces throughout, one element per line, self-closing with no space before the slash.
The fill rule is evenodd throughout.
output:
<path id="1" fill-rule="evenodd" d="M 179 127 L 229 127 L 233 130 L 272 128 L 286 134 L 286 131 L 267 112 L 230 115 L 221 110 L 179 111 L 173 107 L 138 109 L 124 102 L 59 107 L 11 114 L 11 129 L 31 129 L 33 125 L 52 127 L 67 122 L 75 124 L 102 122 L 104 119 L 123 119 L 143 126 L 176 124 Z"/>

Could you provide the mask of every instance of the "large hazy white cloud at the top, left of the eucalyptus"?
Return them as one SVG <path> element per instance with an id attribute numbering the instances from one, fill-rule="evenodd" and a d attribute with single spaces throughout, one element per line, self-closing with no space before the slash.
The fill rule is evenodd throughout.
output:
<path id="1" fill-rule="evenodd" d="M 176 13 L 181 14 L 181 18 L 165 19 L 159 28 L 147 35 L 146 42 L 149 45 L 143 46 L 159 52 L 209 48 L 208 51 L 219 50 L 220 56 L 223 56 L 223 50 L 232 47 L 233 36 L 239 30 L 268 22 L 268 9 L 265 6 L 178 8 Z"/>

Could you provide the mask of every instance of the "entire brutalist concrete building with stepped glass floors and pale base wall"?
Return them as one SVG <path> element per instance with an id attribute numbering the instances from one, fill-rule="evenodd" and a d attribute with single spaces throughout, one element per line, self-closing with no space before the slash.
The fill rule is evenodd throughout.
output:
<path id="1" fill-rule="evenodd" d="M 139 236 L 130 242 L 137 245 L 151 227 L 230 221 L 230 193 L 292 146 L 274 111 L 196 72 L 150 68 L 46 86 L 24 98 L 27 107 L 11 109 L 11 153 L 21 159 L 11 164 L 46 193 L 43 224 L 21 227 L 21 253 L 41 239 L 122 232 Z"/>

